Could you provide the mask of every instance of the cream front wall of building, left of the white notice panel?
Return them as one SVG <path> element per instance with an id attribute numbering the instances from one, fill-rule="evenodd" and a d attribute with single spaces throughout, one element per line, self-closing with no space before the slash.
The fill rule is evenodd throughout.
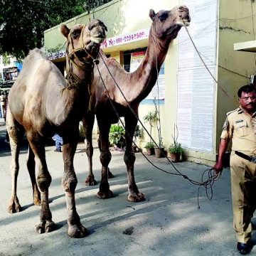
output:
<path id="1" fill-rule="evenodd" d="M 139 30 L 150 28 L 151 26 L 151 18 L 149 18 L 149 10 L 154 9 L 155 12 L 161 9 L 170 10 L 174 6 L 178 5 L 179 1 L 136 1 L 136 0 L 123 0 L 123 1 L 111 1 L 104 6 L 97 8 L 94 12 L 90 14 L 82 14 L 77 16 L 69 21 L 65 21 L 68 27 L 72 27 L 75 23 L 87 23 L 92 18 L 99 18 L 102 20 L 108 28 L 107 38 L 112 38 L 114 36 L 119 36 L 126 33 L 133 33 Z M 44 40 L 46 48 L 56 48 L 56 46 L 60 46 L 58 50 L 65 50 L 65 38 L 60 35 L 60 26 L 55 26 L 53 28 L 45 31 Z M 175 43 L 176 42 L 176 43 Z M 142 48 L 147 46 L 148 40 L 144 39 L 141 41 L 137 41 L 134 43 L 127 43 L 119 46 L 112 46 L 108 48 L 104 48 L 106 54 L 110 54 L 111 57 L 115 58 L 122 64 L 122 53 L 124 50 L 131 50 L 136 48 Z M 169 146 L 171 144 L 171 133 L 169 128 L 170 125 L 174 124 L 176 116 L 175 111 L 172 111 L 172 114 L 169 114 L 169 110 L 175 110 L 176 106 L 176 86 L 171 85 L 171 81 L 176 85 L 176 65 L 177 65 L 177 48 L 178 43 L 177 40 L 174 40 L 172 43 L 174 49 L 169 48 L 169 54 L 166 56 L 165 65 L 165 75 L 164 78 L 166 80 L 166 99 L 165 105 L 160 106 L 161 112 L 161 132 L 162 137 L 166 133 L 165 129 L 168 130 L 168 136 L 164 140 L 164 144 Z M 171 55 L 174 55 L 173 57 Z M 56 60 L 54 60 L 56 61 Z M 57 60 L 58 61 L 58 60 Z M 167 72 L 168 71 L 168 72 Z M 174 78 L 172 78 L 172 75 Z M 171 97 L 167 97 L 167 95 L 171 94 Z M 140 105 L 139 107 L 139 117 L 143 119 L 144 115 L 146 115 L 149 111 L 154 111 L 155 106 L 151 103 L 151 105 Z M 167 117 L 167 118 L 166 118 Z M 166 121 L 165 121 L 166 120 Z M 167 127 L 165 125 L 167 122 Z M 148 124 L 144 124 L 147 129 L 149 129 Z M 96 130 L 96 129 L 95 129 Z M 142 142 L 139 143 L 140 146 L 144 146 L 146 142 L 149 141 L 149 137 L 144 132 L 145 136 L 142 139 Z M 153 136 L 158 142 L 158 136 L 156 129 L 153 131 Z"/>

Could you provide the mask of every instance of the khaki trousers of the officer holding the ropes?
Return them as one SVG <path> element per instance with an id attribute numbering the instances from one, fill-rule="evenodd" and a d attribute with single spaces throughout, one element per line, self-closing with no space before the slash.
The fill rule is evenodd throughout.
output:
<path id="1" fill-rule="evenodd" d="M 256 208 L 256 164 L 234 152 L 230 156 L 233 226 L 238 242 L 251 238 L 251 218 Z"/>

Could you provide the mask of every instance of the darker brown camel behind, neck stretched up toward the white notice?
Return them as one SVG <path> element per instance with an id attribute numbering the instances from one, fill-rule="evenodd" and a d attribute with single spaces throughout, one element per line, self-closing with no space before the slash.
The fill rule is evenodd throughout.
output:
<path id="1" fill-rule="evenodd" d="M 87 156 L 89 162 L 89 174 L 85 183 L 87 185 L 95 185 L 96 181 L 92 174 L 92 127 L 95 118 L 94 113 L 96 114 L 100 129 L 99 148 L 100 161 L 102 163 L 102 179 L 100 191 L 97 193 L 99 198 L 111 198 L 113 196 L 107 181 L 108 174 L 112 176 L 110 171 L 108 171 L 108 165 L 111 160 L 108 138 L 111 124 L 116 123 L 118 119 L 107 97 L 107 95 L 110 95 L 119 116 L 124 117 L 125 121 L 126 150 L 124 162 L 127 166 L 128 200 L 144 200 L 144 195 L 143 193 L 139 193 L 134 179 L 135 154 L 132 148 L 132 137 L 134 129 L 137 126 L 137 117 L 134 117 L 127 102 L 129 102 L 129 105 L 138 115 L 139 102 L 149 95 L 149 92 L 155 85 L 158 70 L 160 70 L 162 63 L 164 63 L 171 40 L 176 38 L 183 24 L 188 26 L 190 22 L 188 8 L 186 6 L 178 6 L 171 11 L 159 11 L 157 14 L 155 14 L 153 10 L 150 10 L 149 16 L 153 21 L 149 33 L 149 46 L 146 50 L 144 60 L 137 70 L 133 73 L 127 73 L 114 58 L 106 58 L 104 53 L 100 51 L 100 55 L 104 61 L 100 61 L 98 68 L 100 69 L 100 74 L 107 87 L 107 92 L 105 92 L 105 87 L 102 84 L 100 74 L 95 66 L 95 80 L 92 83 L 92 98 L 90 104 L 92 112 L 87 112 L 82 122 L 87 138 Z M 110 75 L 110 73 L 112 75 Z M 124 100 L 124 97 L 119 92 L 112 76 L 121 88 L 127 101 Z"/>

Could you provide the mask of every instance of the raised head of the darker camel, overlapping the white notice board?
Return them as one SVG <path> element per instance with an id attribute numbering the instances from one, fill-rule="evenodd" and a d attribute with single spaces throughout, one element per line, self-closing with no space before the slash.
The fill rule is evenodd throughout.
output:
<path id="1" fill-rule="evenodd" d="M 189 26 L 191 18 L 186 6 L 176 6 L 171 11 L 149 11 L 149 17 L 153 21 L 152 28 L 157 38 L 171 40 L 176 38 L 182 26 Z"/>

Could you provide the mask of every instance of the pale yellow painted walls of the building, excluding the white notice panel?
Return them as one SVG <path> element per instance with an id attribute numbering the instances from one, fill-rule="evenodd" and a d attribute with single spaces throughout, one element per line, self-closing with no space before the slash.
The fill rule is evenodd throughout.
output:
<path id="1" fill-rule="evenodd" d="M 182 2 L 196 3 L 196 0 L 184 0 Z M 209 129 L 214 130 L 213 151 L 187 150 L 188 160 L 210 165 L 215 162 L 216 154 L 218 153 L 219 137 L 225 119 L 225 113 L 238 106 L 236 91 L 240 85 L 244 85 L 249 81 L 248 78 L 245 77 L 250 77 L 250 74 L 256 73 L 255 54 L 237 53 L 233 50 L 233 43 L 255 39 L 253 28 L 255 28 L 256 24 L 252 19 L 252 14 L 255 14 L 256 11 L 255 2 L 249 0 L 225 0 L 217 1 L 217 3 L 218 17 L 215 17 L 217 20 L 215 73 L 216 78 L 218 78 L 218 85 L 215 85 L 215 95 L 213 95 L 213 97 L 215 97 L 213 113 L 214 124 L 213 127 L 209 127 Z M 110 3 L 95 9 L 95 11 L 91 11 L 90 14 L 82 14 L 69 21 L 65 21 L 65 23 L 71 27 L 75 23 L 87 23 L 92 18 L 99 18 L 108 28 L 107 38 L 112 38 L 114 36 L 134 33 L 139 30 L 150 28 L 150 9 L 154 9 L 155 12 L 161 9 L 170 10 L 178 4 L 182 4 L 181 1 L 110 1 Z M 188 6 L 188 9 L 189 7 L 190 6 Z M 194 17 L 191 16 L 191 23 L 193 22 L 193 18 Z M 188 30 L 189 29 L 190 28 L 188 27 Z M 203 31 L 200 33 L 203 33 Z M 148 40 L 144 38 L 141 41 L 111 46 L 104 48 L 103 50 L 122 64 L 123 52 L 125 50 L 142 48 L 147 46 L 147 43 Z M 45 46 L 46 48 L 65 50 L 65 38 L 60 34 L 59 26 L 55 26 L 54 28 L 45 31 Z M 174 126 L 177 122 L 178 47 L 178 39 L 175 39 L 169 46 L 169 51 L 164 63 L 165 99 L 164 105 L 160 105 L 160 114 L 161 134 L 166 148 L 173 142 L 172 135 L 174 135 Z M 220 66 L 218 67 L 218 65 L 222 68 Z M 233 72 L 228 70 L 232 70 Z M 245 75 L 245 77 L 237 75 L 236 73 Z M 223 90 L 228 96 L 225 95 Z M 154 111 L 154 108 L 155 106 L 152 104 L 140 105 L 139 118 L 142 119 L 142 122 L 143 117 L 149 111 Z M 149 129 L 149 124 L 145 124 L 145 127 Z M 152 134 L 157 142 L 156 129 L 154 129 Z M 146 142 L 149 142 L 149 137 L 144 132 L 144 138 L 139 142 L 139 146 L 143 147 Z"/>

